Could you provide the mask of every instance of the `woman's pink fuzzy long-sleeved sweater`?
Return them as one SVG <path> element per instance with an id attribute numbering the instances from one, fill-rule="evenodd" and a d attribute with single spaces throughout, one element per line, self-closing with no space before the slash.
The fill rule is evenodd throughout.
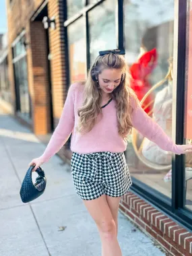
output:
<path id="1" fill-rule="evenodd" d="M 70 86 L 59 124 L 46 150 L 44 150 L 44 154 L 40 156 L 43 162 L 47 162 L 49 158 L 61 149 L 71 132 L 72 152 L 88 154 L 105 151 L 123 152 L 126 150 L 127 141 L 118 133 L 115 100 L 112 100 L 107 106 L 102 108 L 103 117 L 90 132 L 81 134 L 74 129 L 79 120 L 77 108 L 82 106 L 83 90 L 84 86 L 81 84 L 76 83 Z M 162 150 L 181 154 L 179 147 L 164 133 L 159 125 L 148 117 L 141 106 L 133 106 L 132 125 L 142 135 L 154 141 Z"/>

